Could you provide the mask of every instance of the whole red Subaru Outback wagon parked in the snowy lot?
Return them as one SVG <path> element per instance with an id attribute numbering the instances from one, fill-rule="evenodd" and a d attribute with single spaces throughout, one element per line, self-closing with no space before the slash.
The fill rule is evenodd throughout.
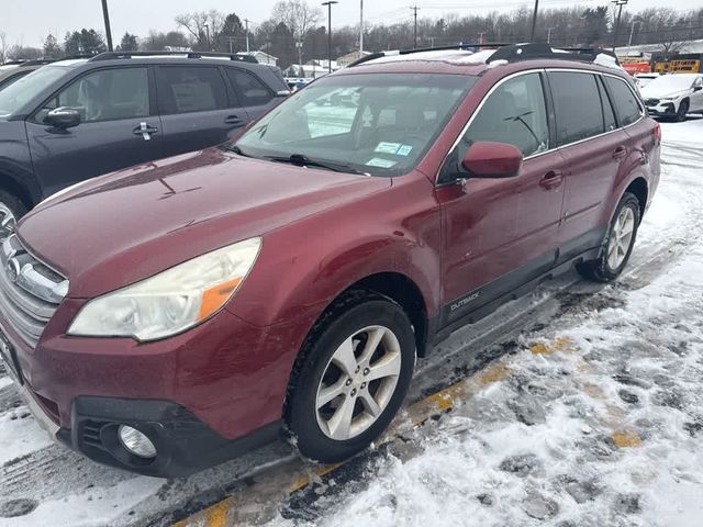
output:
<path id="1" fill-rule="evenodd" d="M 281 430 L 339 461 L 453 329 L 574 266 L 616 278 L 659 144 L 596 51 L 373 55 L 227 145 L 2 222 L 0 350 L 102 463 L 188 474 Z"/>

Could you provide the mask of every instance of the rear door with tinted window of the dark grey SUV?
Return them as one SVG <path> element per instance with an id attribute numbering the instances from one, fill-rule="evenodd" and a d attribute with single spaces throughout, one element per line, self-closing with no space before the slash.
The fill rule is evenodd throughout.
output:
<path id="1" fill-rule="evenodd" d="M 156 82 L 165 156 L 224 143 L 249 121 L 219 66 L 157 66 Z"/>

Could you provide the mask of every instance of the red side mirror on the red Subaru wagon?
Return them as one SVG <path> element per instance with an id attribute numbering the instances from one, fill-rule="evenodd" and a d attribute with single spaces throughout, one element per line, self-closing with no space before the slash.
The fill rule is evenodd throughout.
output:
<path id="1" fill-rule="evenodd" d="M 469 147 L 461 166 L 473 178 L 512 178 L 520 173 L 523 153 L 506 143 L 479 141 Z"/>

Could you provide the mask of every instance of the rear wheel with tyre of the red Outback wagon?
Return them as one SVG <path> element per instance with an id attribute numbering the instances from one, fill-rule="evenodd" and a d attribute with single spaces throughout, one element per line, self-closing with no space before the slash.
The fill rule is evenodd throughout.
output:
<path id="1" fill-rule="evenodd" d="M 601 255 L 596 260 L 579 266 L 585 278 L 598 282 L 615 280 L 629 260 L 637 238 L 640 220 L 639 200 L 625 192 L 617 204 L 617 210 L 603 242 Z"/>

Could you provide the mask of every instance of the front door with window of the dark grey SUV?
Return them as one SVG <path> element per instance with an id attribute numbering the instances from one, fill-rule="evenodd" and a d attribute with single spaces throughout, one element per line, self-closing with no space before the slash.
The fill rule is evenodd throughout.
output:
<path id="1" fill-rule="evenodd" d="M 79 110 L 81 123 L 44 123 L 59 106 Z M 161 156 L 160 122 L 147 67 L 91 70 L 71 80 L 26 122 L 34 172 L 44 195 L 94 176 Z"/>

